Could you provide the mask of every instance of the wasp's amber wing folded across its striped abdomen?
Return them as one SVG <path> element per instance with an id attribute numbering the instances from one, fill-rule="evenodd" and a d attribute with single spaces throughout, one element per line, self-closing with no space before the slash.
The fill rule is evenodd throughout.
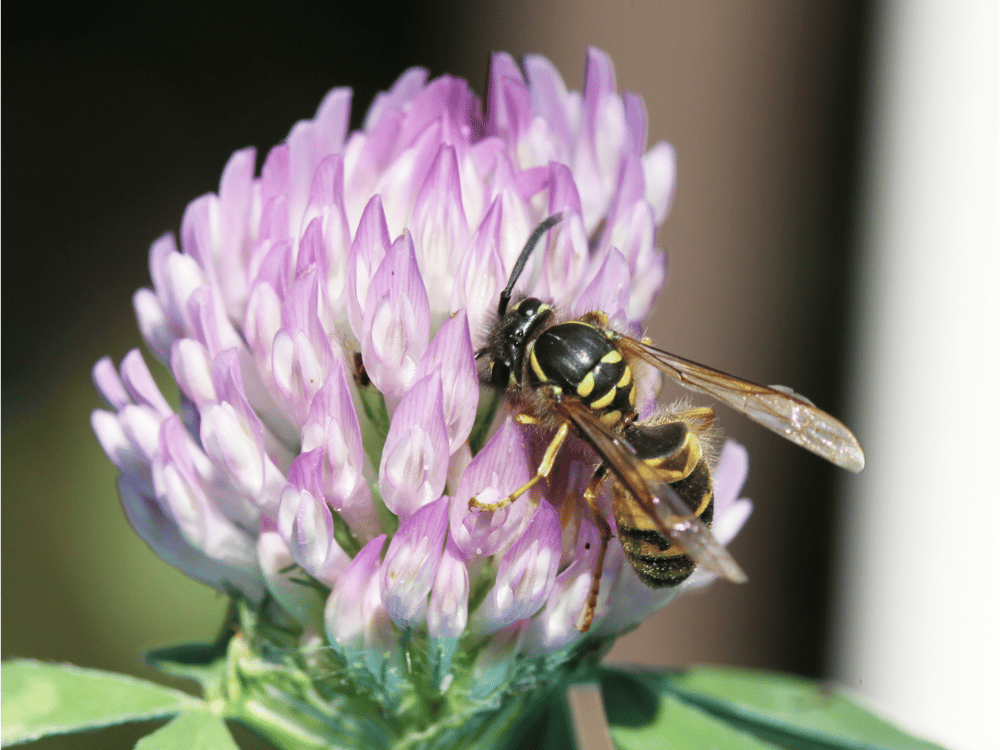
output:
<path id="1" fill-rule="evenodd" d="M 631 492 L 660 533 L 670 539 L 699 565 L 735 583 L 746 581 L 746 574 L 732 555 L 712 535 L 708 527 L 684 503 L 676 491 L 635 454 L 621 435 L 601 422 L 581 402 L 563 399 L 555 410 L 569 420 L 597 451 L 618 480 Z"/>

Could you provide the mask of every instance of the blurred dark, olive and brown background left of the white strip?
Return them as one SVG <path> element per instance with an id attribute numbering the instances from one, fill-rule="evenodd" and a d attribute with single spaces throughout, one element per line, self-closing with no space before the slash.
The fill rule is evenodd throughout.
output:
<path id="1" fill-rule="evenodd" d="M 279 142 L 333 86 L 357 125 L 411 65 L 469 78 L 491 50 L 548 56 L 572 88 L 587 45 L 678 154 L 650 334 L 845 412 L 865 2 L 400 5 L 172 3 L 8 20 L 4 60 L 3 656 L 143 674 L 143 649 L 214 634 L 224 602 L 160 563 L 118 508 L 89 427 L 92 363 L 140 345 L 150 242 L 217 189 L 227 157 Z M 73 15 L 76 13 L 76 15 Z M 826 673 L 837 470 L 721 412 L 756 503 L 750 575 L 675 602 L 613 652 Z M 95 735 L 130 747 L 141 732 Z M 42 747 L 43 745 L 39 745 Z M 50 741 L 47 747 L 78 747 Z"/>

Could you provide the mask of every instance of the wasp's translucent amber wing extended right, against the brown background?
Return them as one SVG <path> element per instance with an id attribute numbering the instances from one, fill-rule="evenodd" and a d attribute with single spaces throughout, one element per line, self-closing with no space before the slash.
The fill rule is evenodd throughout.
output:
<path id="1" fill-rule="evenodd" d="M 699 365 L 623 334 L 615 343 L 685 388 L 714 396 L 769 430 L 849 471 L 861 471 L 865 454 L 840 420 L 784 386 L 767 386 Z"/>

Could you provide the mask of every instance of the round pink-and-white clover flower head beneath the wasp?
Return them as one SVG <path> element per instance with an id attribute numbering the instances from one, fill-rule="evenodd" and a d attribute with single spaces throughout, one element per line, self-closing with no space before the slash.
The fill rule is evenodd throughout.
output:
<path id="1" fill-rule="evenodd" d="M 583 92 L 542 57 L 522 71 L 498 54 L 485 108 L 421 69 L 354 132 L 350 103 L 331 91 L 259 174 L 253 149 L 233 154 L 179 245 L 153 243 L 134 305 L 179 406 L 132 351 L 95 366 L 110 409 L 93 427 L 149 546 L 320 644 L 337 684 L 400 712 L 414 691 L 485 705 L 677 593 L 642 584 L 613 539 L 593 628 L 577 629 L 599 532 L 581 500 L 596 458 L 575 438 L 547 483 L 469 507 L 527 482 L 545 448 L 475 361 L 526 239 L 563 215 L 516 294 L 638 331 L 665 279 L 674 154 L 647 148 L 642 101 L 598 50 Z M 656 378 L 639 377 L 648 414 Z M 745 452 L 727 443 L 715 472 L 728 542 L 749 512 Z"/>

